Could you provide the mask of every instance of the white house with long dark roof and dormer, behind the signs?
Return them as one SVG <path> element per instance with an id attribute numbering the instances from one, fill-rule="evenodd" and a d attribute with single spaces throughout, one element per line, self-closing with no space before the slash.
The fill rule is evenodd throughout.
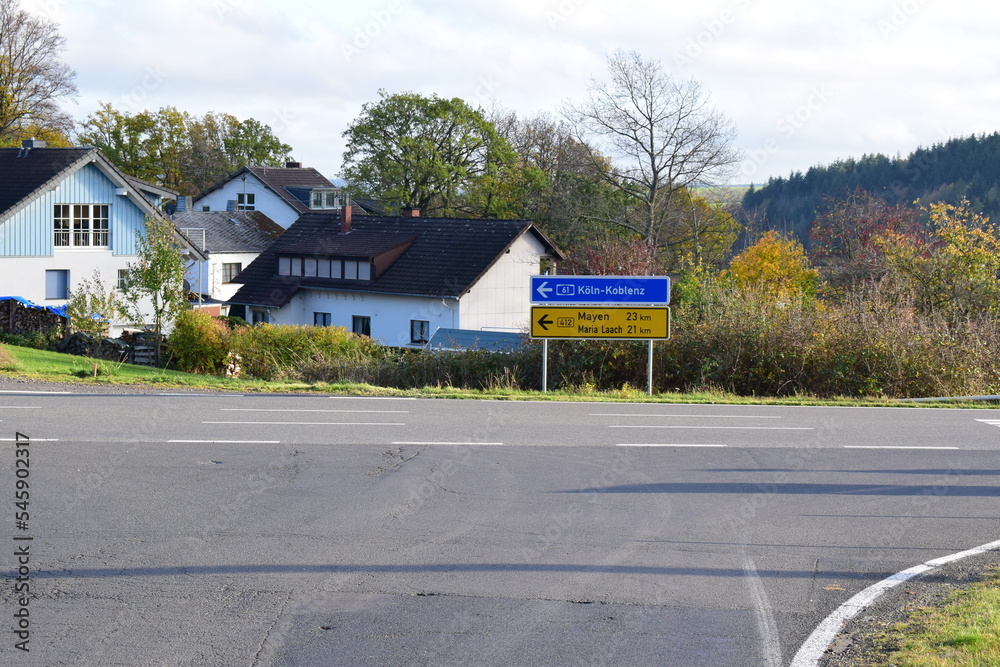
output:
<path id="1" fill-rule="evenodd" d="M 531 276 L 559 250 L 527 220 L 312 212 L 234 279 L 230 314 L 422 346 L 440 327 L 524 331 Z"/>

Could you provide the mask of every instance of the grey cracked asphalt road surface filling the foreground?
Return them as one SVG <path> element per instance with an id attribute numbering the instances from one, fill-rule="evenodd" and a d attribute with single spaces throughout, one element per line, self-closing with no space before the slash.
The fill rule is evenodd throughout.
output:
<path id="1" fill-rule="evenodd" d="M 18 388 L 3 664 L 771 667 L 1000 532 L 995 410 Z"/>

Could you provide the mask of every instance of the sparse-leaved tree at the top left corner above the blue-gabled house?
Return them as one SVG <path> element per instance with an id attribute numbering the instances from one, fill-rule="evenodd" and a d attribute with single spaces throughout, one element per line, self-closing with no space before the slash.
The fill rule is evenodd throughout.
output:
<path id="1" fill-rule="evenodd" d="M 67 133 L 70 117 L 58 102 L 77 94 L 76 72 L 60 62 L 58 26 L 0 0 L 0 143 L 27 127 Z"/>

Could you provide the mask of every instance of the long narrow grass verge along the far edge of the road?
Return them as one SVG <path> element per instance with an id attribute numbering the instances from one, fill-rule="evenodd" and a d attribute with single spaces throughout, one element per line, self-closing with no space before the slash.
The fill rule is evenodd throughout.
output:
<path id="1" fill-rule="evenodd" d="M 94 365 L 97 364 L 97 373 Z M 228 378 L 197 375 L 180 371 L 150 368 L 133 364 L 95 361 L 87 357 L 0 344 L 0 375 L 42 382 L 78 383 L 90 386 L 144 385 L 159 388 L 187 388 L 203 391 L 239 393 L 324 393 L 349 396 L 401 396 L 421 398 L 486 398 L 493 400 L 536 401 L 616 401 L 636 403 L 702 403 L 729 405 L 814 405 L 856 407 L 916 407 L 889 399 L 834 398 L 811 396 L 781 398 L 748 397 L 722 391 L 661 393 L 647 395 L 644 390 L 625 386 L 619 390 L 598 391 L 589 387 L 541 391 L 496 388 L 492 390 L 457 389 L 447 385 L 421 389 L 394 389 L 368 384 L 304 383 Z M 927 407 L 928 403 L 920 404 Z M 995 407 L 976 402 L 948 402 L 942 407 Z"/>

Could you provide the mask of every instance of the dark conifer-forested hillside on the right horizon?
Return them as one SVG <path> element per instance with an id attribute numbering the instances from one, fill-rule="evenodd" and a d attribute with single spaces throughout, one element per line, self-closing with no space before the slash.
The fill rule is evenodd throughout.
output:
<path id="1" fill-rule="evenodd" d="M 809 228 L 824 199 L 863 188 L 888 204 L 957 204 L 1000 221 L 1000 133 L 950 139 L 918 148 L 908 157 L 865 155 L 772 178 L 743 197 L 748 223 L 761 232 L 794 233 L 808 247 Z"/>

